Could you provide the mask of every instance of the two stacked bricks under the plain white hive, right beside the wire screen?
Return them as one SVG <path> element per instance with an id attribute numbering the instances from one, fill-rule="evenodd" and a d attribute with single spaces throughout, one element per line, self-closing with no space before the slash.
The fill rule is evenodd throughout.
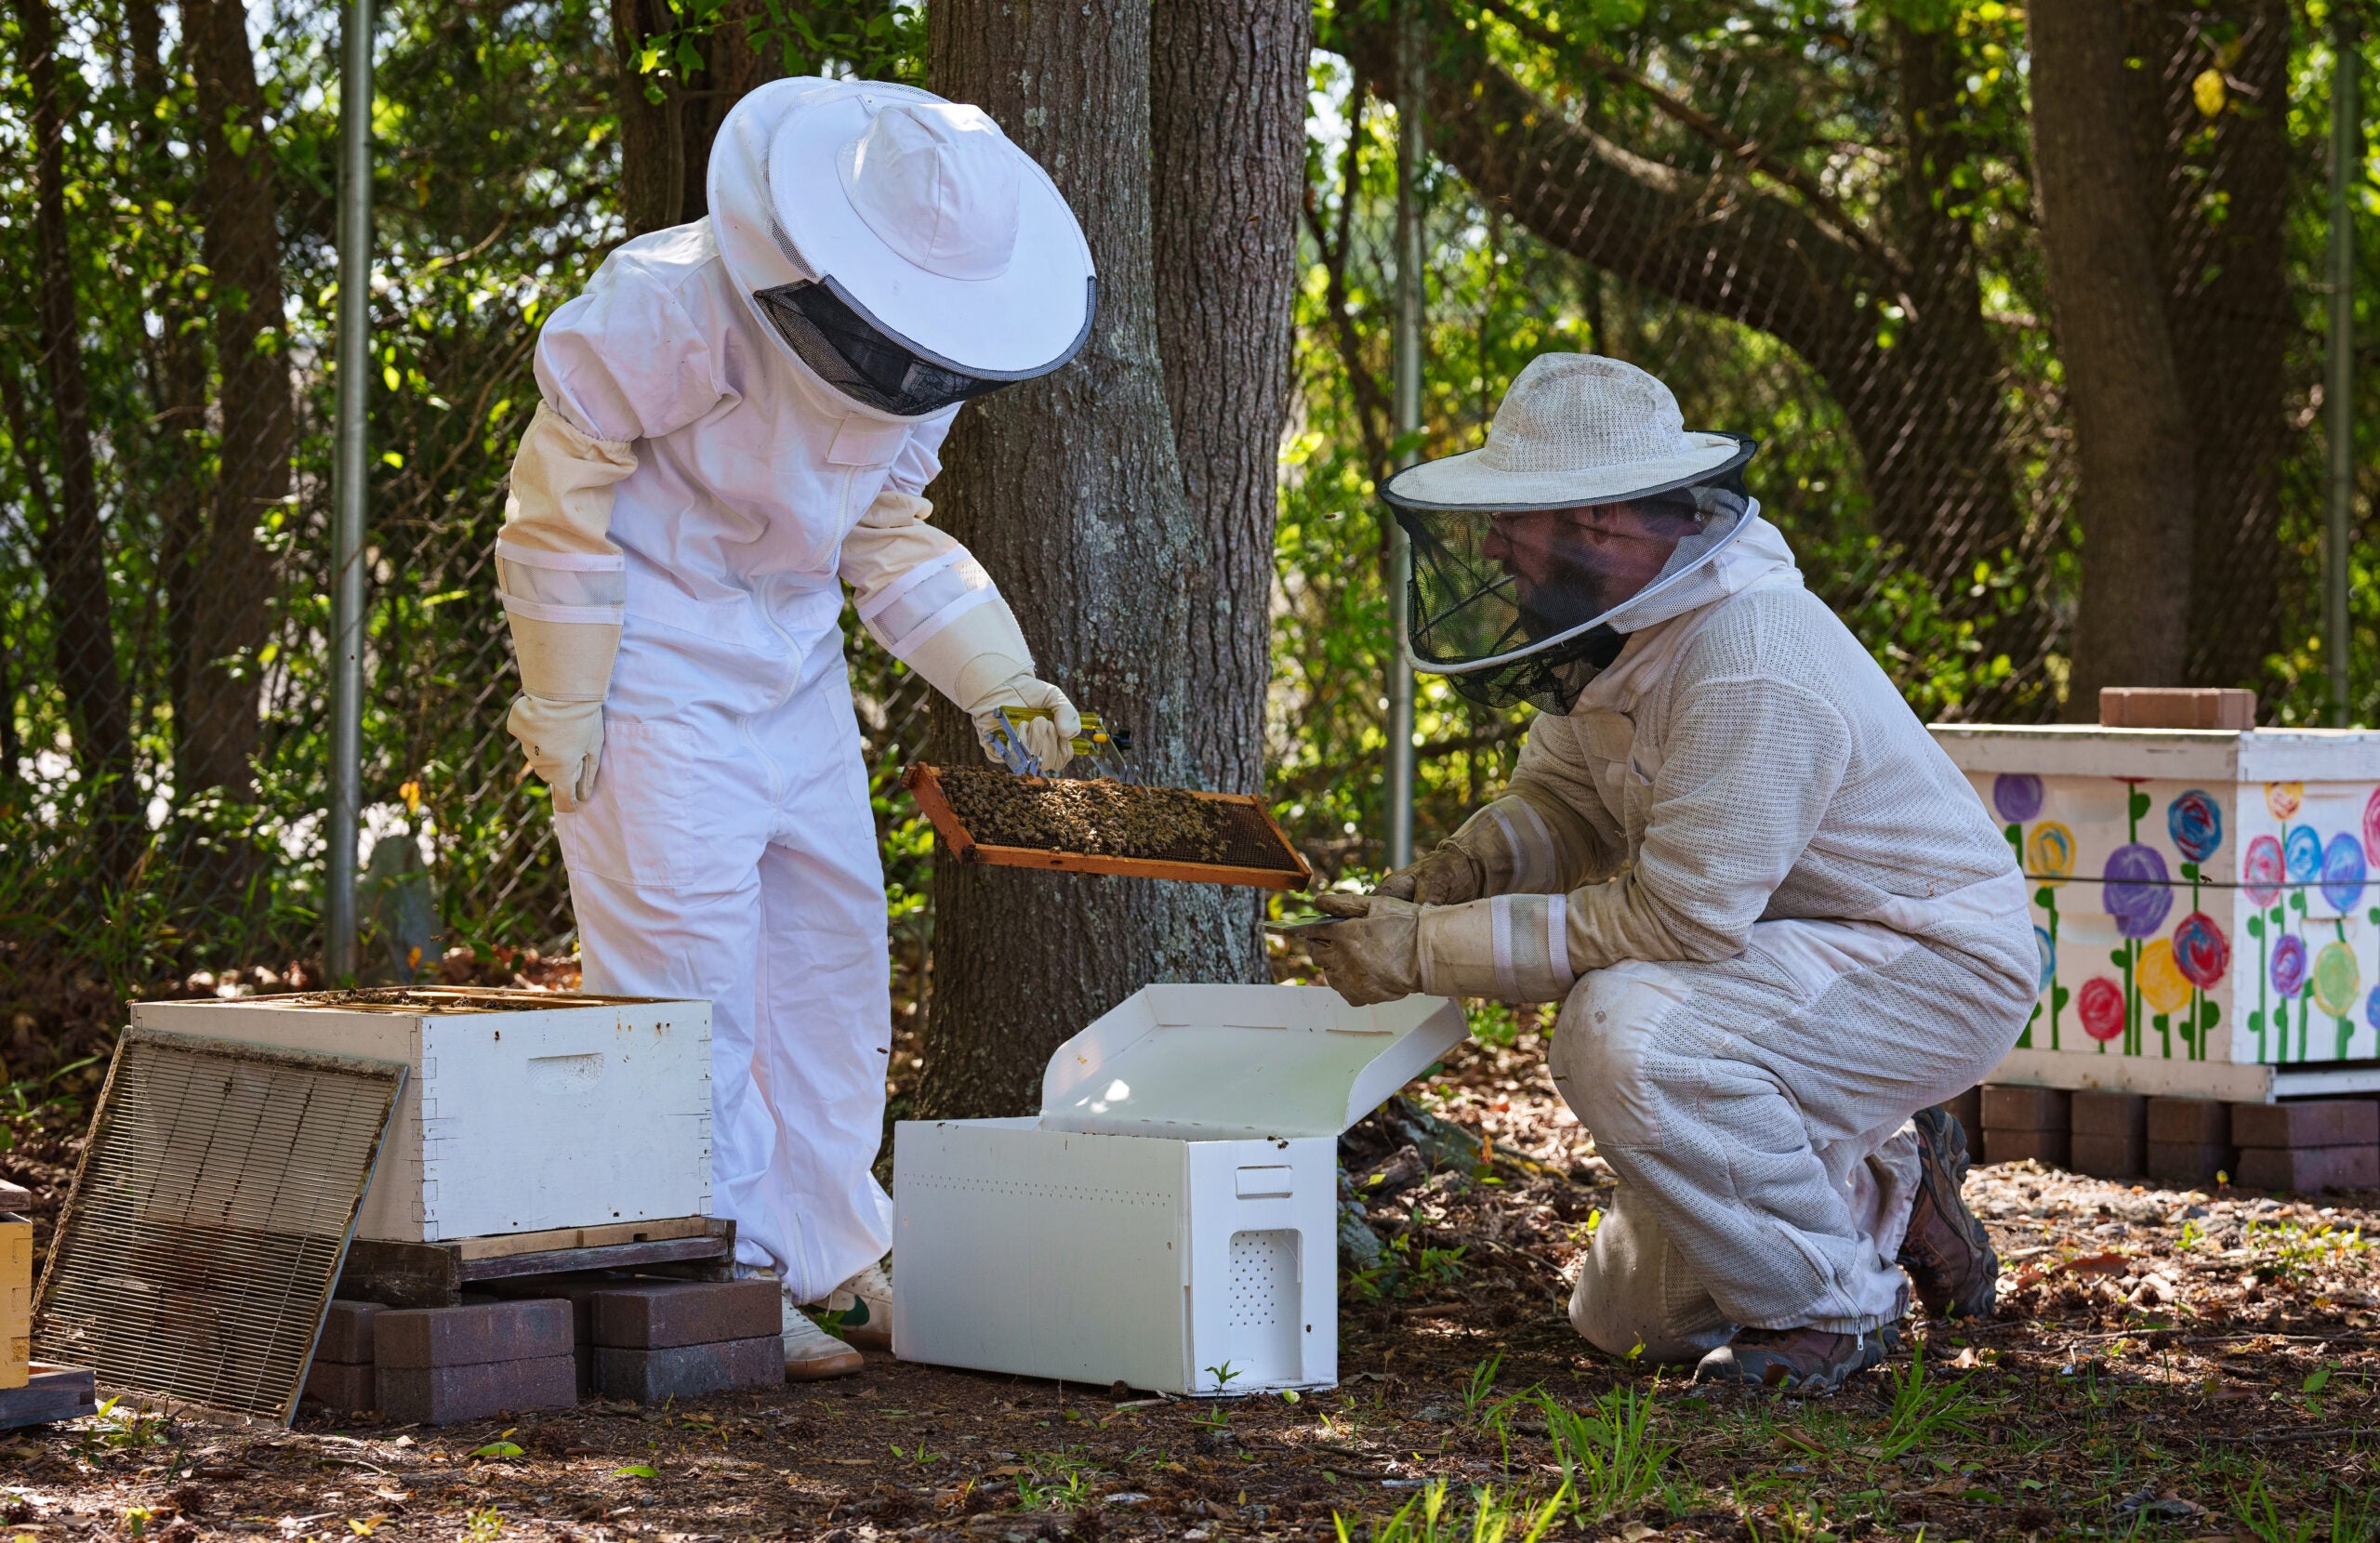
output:
<path id="1" fill-rule="evenodd" d="M 571 1305 L 386 1307 L 371 1317 L 374 1391 L 397 1424 L 455 1424 L 578 1403 Z"/>

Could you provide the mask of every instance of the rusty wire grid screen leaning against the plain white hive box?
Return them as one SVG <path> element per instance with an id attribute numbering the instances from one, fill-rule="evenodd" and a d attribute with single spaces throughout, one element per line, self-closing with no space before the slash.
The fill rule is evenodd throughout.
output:
<path id="1" fill-rule="evenodd" d="M 129 1029 L 33 1345 L 102 1383 L 288 1419 L 400 1062 Z"/>

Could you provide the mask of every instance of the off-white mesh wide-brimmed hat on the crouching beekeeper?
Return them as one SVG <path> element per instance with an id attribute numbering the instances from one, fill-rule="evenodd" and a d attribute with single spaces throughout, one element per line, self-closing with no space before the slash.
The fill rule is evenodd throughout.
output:
<path id="1" fill-rule="evenodd" d="M 1483 448 L 1407 467 L 1383 495 L 1409 510 L 1571 510 L 1709 481 L 1754 448 L 1687 429 L 1668 386 L 1635 364 L 1537 355 L 1514 376 Z"/>

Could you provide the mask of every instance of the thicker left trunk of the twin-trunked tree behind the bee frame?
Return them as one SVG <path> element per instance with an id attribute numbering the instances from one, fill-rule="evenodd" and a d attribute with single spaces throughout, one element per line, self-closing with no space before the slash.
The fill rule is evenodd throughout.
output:
<path id="1" fill-rule="evenodd" d="M 1047 679 L 1133 729 L 1133 772 L 1200 776 L 1188 733 L 1190 598 L 1202 567 L 1164 367 L 1150 236 L 1145 0 L 935 0 L 933 88 L 978 102 L 1057 179 L 1100 271 L 1100 317 L 1066 369 L 966 407 L 938 521 L 1000 581 Z M 981 764 L 938 705 L 933 760 Z M 935 995 L 919 1114 L 1019 1114 L 1066 1036 L 1150 981 L 1214 979 L 1247 910 L 1219 891 L 935 862 Z"/>

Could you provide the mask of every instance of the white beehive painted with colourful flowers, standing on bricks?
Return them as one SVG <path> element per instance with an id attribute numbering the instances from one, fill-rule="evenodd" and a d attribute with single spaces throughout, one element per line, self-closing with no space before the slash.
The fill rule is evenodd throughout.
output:
<path id="1" fill-rule="evenodd" d="M 1937 724 L 2033 893 L 2004 1081 L 2380 1086 L 2380 733 Z"/>

